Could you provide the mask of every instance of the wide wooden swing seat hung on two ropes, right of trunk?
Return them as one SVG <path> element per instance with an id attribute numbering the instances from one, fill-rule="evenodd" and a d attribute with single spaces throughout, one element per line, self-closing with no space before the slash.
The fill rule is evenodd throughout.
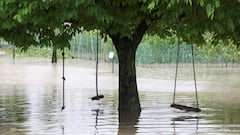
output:
<path id="1" fill-rule="evenodd" d="M 198 104 L 198 94 L 197 94 L 197 83 L 196 83 L 196 73 L 195 73 L 195 62 L 194 62 L 194 48 L 192 45 L 192 66 L 193 66 L 193 77 L 194 77 L 194 86 L 195 86 L 195 95 L 197 107 L 190 107 L 185 105 L 180 105 L 175 103 L 176 98 L 176 85 L 177 85 L 177 74 L 178 74 L 178 64 L 179 64 L 179 51 L 180 51 L 180 39 L 178 38 L 178 48 L 177 48 L 177 62 L 176 62 L 176 73 L 175 73 L 175 82 L 174 82 L 174 94 L 173 94 L 173 103 L 170 105 L 173 108 L 185 110 L 187 112 L 201 112 Z"/>

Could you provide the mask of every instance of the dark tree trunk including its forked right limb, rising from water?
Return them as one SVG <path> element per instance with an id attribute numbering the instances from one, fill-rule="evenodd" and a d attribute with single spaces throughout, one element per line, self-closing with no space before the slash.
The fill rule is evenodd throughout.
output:
<path id="1" fill-rule="evenodd" d="M 133 38 L 110 35 L 119 59 L 119 111 L 141 111 L 138 96 L 135 54 L 147 30 L 145 21 L 139 24 Z"/>

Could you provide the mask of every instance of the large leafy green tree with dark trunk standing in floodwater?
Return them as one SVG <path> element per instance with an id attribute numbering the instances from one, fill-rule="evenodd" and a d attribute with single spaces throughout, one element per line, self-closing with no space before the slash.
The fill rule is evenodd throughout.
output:
<path id="1" fill-rule="evenodd" d="M 23 49 L 36 43 L 63 48 L 76 32 L 100 30 L 119 58 L 119 110 L 140 111 L 135 53 L 143 35 L 176 34 L 200 44 L 211 32 L 212 41 L 239 45 L 239 7 L 239 0 L 1 0 L 0 35 Z"/>

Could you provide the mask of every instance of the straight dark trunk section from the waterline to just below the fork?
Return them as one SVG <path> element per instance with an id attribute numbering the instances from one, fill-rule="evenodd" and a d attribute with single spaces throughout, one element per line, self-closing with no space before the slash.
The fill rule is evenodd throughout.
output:
<path id="1" fill-rule="evenodd" d="M 119 110 L 141 110 L 135 68 L 137 45 L 119 41 L 116 50 L 119 58 Z"/>

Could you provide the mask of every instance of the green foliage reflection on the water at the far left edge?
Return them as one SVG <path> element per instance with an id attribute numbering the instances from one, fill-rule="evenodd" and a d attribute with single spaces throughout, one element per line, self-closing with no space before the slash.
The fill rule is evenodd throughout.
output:
<path id="1" fill-rule="evenodd" d="M 25 134 L 24 123 L 28 120 L 30 112 L 28 106 L 29 101 L 24 93 L 19 94 L 18 91 L 23 91 L 13 86 L 14 92 L 11 95 L 0 93 L 0 131 L 1 134 Z"/>

